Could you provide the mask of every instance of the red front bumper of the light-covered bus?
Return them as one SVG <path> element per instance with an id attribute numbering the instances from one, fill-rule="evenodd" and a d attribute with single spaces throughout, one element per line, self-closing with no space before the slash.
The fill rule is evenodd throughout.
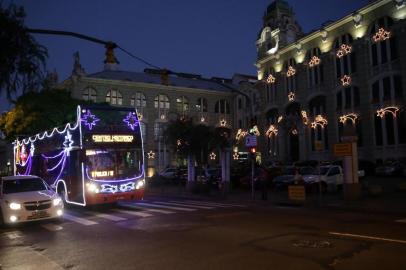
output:
<path id="1" fill-rule="evenodd" d="M 86 204 L 115 203 L 118 201 L 142 200 L 144 198 L 144 189 L 137 189 L 131 192 L 120 193 L 87 193 Z"/>

